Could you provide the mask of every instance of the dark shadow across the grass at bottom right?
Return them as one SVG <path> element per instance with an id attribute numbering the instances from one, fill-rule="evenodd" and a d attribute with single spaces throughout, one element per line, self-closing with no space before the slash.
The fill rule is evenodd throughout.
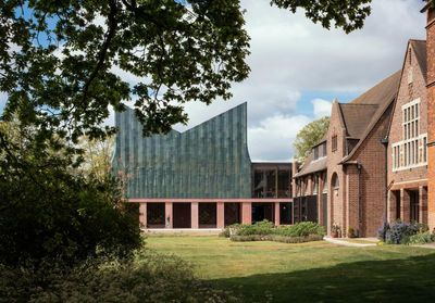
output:
<path id="1" fill-rule="evenodd" d="M 212 282 L 245 302 L 435 302 L 435 253 Z"/>

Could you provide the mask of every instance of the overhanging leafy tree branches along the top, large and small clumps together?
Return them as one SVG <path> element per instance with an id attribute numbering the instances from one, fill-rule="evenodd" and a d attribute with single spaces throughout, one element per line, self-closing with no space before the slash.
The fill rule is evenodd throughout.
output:
<path id="1" fill-rule="evenodd" d="M 346 33 L 362 27 L 369 3 L 271 1 Z M 146 135 L 166 132 L 187 122 L 183 103 L 229 99 L 249 73 L 239 0 L 0 0 L 0 20 L 2 118 L 16 113 L 37 138 L 104 137 L 114 131 L 101 126 L 109 106 L 128 100 Z"/>

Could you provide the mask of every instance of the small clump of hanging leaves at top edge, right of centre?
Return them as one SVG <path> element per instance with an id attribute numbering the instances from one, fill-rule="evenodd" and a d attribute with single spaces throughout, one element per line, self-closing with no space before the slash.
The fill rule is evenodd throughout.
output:
<path id="1" fill-rule="evenodd" d="M 306 16 L 314 23 L 321 23 L 323 27 L 341 27 L 346 33 L 362 28 L 364 20 L 371 13 L 372 0 L 323 0 L 323 1 L 297 1 L 297 0 L 271 0 L 271 4 L 290 10 L 304 9 Z"/>

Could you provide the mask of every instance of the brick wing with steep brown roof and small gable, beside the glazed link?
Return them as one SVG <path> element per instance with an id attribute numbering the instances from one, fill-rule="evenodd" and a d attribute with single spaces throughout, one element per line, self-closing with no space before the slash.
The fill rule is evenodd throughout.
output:
<path id="1" fill-rule="evenodd" d="M 333 103 L 327 134 L 295 175 L 295 222 L 301 209 L 316 205 L 318 220 L 331 233 L 352 228 L 374 236 L 383 222 L 388 122 L 400 73 L 384 79 L 349 103 Z M 313 207 L 313 206 L 311 206 Z M 301 220 L 304 220 L 301 217 Z"/>

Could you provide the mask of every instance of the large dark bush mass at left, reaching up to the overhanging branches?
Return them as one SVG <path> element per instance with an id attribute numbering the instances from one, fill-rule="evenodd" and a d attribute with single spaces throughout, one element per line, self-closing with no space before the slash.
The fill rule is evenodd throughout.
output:
<path id="1" fill-rule="evenodd" d="M 127 256 L 141 244 L 138 207 L 110 176 L 74 168 L 62 143 L 0 125 L 0 263 Z"/>

